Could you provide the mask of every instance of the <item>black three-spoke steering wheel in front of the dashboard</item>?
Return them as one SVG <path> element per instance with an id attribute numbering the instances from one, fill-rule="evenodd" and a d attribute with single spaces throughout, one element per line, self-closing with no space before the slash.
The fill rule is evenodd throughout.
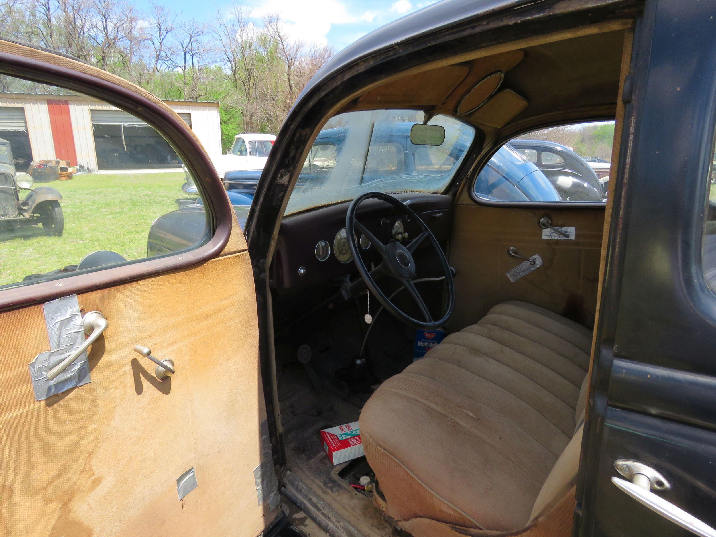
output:
<path id="1" fill-rule="evenodd" d="M 368 230 L 368 228 L 356 219 L 358 205 L 360 205 L 363 201 L 370 199 L 387 201 L 387 203 L 393 205 L 400 212 L 405 213 L 410 221 L 420 227 L 420 234 L 407 246 L 403 246 L 401 243 L 395 241 L 394 238 L 391 238 L 390 242 L 387 244 L 379 241 L 374 234 Z M 366 268 L 365 263 L 360 256 L 360 248 L 358 247 L 356 236 L 360 236 L 361 233 L 370 241 L 382 257 L 381 263 L 371 271 Z M 356 269 L 358 269 L 358 272 L 369 291 L 374 294 L 385 309 L 410 326 L 420 329 L 436 329 L 450 319 L 450 315 L 453 314 L 453 307 L 455 306 L 455 284 L 453 284 L 453 274 L 450 272 L 448 259 L 445 258 L 445 253 L 442 253 L 442 248 L 440 248 L 440 244 L 437 242 L 437 239 L 433 236 L 430 228 L 425 225 L 425 222 L 421 220 L 420 216 L 417 216 L 415 211 L 412 211 L 410 207 L 405 205 L 405 203 L 402 203 L 402 201 L 397 200 L 392 195 L 384 194 L 382 192 L 367 192 L 361 194 L 352 201 L 348 208 L 348 213 L 346 215 L 346 235 Z M 417 271 L 415 269 L 415 260 L 412 257 L 412 253 L 415 252 L 415 248 L 420 246 L 420 243 L 422 243 L 422 241 L 426 238 L 430 241 L 432 248 L 435 250 L 435 255 L 440 261 L 442 274 L 445 275 L 445 283 L 448 286 L 448 306 L 445 309 L 445 314 L 443 314 L 440 319 L 432 319 L 430 311 L 428 311 L 427 306 L 425 306 L 425 301 L 422 299 L 422 296 L 420 296 L 420 293 L 417 292 L 417 289 L 415 289 L 415 284 L 413 284 L 413 279 L 415 279 Z M 374 278 L 379 274 L 385 274 L 400 281 L 402 286 L 407 289 L 417 303 L 417 306 L 420 308 L 420 312 L 423 316 L 422 320 L 415 319 L 406 314 L 405 311 L 398 309 L 397 306 L 395 306 L 395 304 L 393 304 L 390 299 L 385 296 L 385 294 L 375 284 Z"/>

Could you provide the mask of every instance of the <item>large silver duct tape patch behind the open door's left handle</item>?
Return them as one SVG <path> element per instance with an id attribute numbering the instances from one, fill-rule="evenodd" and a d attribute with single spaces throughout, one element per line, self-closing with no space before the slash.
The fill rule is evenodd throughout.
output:
<path id="1" fill-rule="evenodd" d="M 79 311 L 77 295 L 63 296 L 61 299 L 47 302 L 43 310 L 50 350 L 41 352 L 29 364 L 30 379 L 37 401 L 90 382 L 87 352 L 83 352 L 54 380 L 47 379 L 47 373 L 53 367 L 84 344 L 82 313 Z"/>

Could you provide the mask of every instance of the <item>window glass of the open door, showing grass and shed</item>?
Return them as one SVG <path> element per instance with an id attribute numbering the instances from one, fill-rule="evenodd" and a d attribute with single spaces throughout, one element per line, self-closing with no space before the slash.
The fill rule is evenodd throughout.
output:
<path id="1" fill-rule="evenodd" d="M 0 289 L 208 240 L 193 178 L 154 127 L 95 97 L 0 82 Z"/>

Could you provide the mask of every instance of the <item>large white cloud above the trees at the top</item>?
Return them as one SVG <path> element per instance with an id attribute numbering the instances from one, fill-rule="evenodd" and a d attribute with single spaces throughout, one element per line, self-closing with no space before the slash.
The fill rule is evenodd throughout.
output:
<path id="1" fill-rule="evenodd" d="M 252 16 L 262 18 L 279 14 L 286 25 L 286 32 L 297 41 L 307 44 L 328 44 L 327 35 L 334 24 L 372 22 L 374 11 L 349 11 L 344 0 L 257 0 L 251 3 Z"/>

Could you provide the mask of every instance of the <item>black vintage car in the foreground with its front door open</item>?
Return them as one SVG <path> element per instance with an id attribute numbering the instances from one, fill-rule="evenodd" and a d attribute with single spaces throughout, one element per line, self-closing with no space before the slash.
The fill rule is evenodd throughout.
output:
<path id="1" fill-rule="evenodd" d="M 204 208 L 182 251 L 0 289 L 3 534 L 716 536 L 715 21 L 430 4 L 311 79 L 243 228 L 163 102 L 2 41 L 158 130 Z M 608 204 L 478 195 L 518 133 L 609 118 Z"/>

